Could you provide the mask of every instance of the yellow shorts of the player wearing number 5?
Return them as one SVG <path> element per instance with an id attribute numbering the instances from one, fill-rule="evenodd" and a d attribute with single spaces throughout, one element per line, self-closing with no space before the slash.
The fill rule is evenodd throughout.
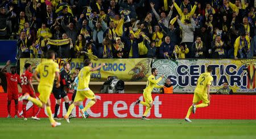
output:
<path id="1" fill-rule="evenodd" d="M 47 103 L 49 96 L 51 95 L 52 92 L 52 87 L 49 86 L 38 86 L 38 91 L 39 91 L 39 99 L 43 103 Z"/>

